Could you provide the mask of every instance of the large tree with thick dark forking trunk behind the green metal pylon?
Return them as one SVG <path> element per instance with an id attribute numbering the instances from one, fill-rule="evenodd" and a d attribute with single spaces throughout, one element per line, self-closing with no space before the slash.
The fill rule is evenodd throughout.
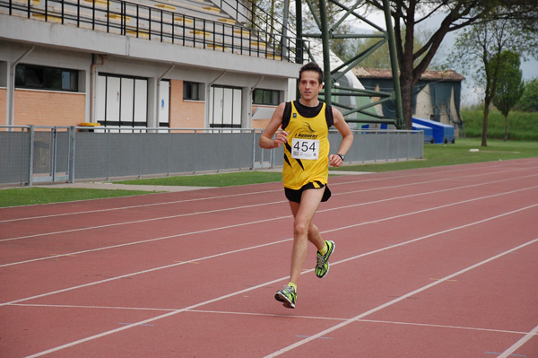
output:
<path id="1" fill-rule="evenodd" d="M 391 0 L 390 11 L 394 19 L 395 43 L 400 67 L 400 86 L 405 127 L 412 127 L 412 88 L 421 78 L 438 51 L 448 32 L 463 29 L 466 26 L 495 19 L 525 20 L 528 26 L 536 27 L 538 12 L 536 0 Z M 365 3 L 378 10 L 383 10 L 382 0 L 365 0 Z M 494 12 L 495 9 L 502 11 Z M 430 18 L 434 13 L 443 13 L 445 17 L 439 23 L 438 30 L 421 48 L 412 47 L 416 25 Z M 490 14 L 494 13 L 494 17 Z M 405 29 L 405 31 L 403 31 Z M 415 61 L 422 57 L 421 61 Z"/>

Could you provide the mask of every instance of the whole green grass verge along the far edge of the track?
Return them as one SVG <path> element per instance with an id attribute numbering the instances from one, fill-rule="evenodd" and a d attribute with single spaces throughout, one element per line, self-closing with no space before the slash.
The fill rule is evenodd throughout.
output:
<path id="1" fill-rule="evenodd" d="M 478 152 L 470 152 L 478 149 Z M 510 159 L 538 157 L 538 143 L 490 139 L 487 147 L 481 139 L 458 139 L 456 144 L 424 144 L 424 159 L 405 162 L 346 165 L 336 170 L 390 171 L 456 165 L 473 162 L 507 161 Z M 172 185 L 195 187 L 229 187 L 281 181 L 280 172 L 240 171 L 226 174 L 178 176 L 159 179 L 136 179 L 117 181 L 120 184 Z M 103 197 L 134 196 L 147 191 L 105 190 L 82 188 L 13 188 L 0 190 L 0 207 L 35 205 L 56 202 L 88 200 Z"/>

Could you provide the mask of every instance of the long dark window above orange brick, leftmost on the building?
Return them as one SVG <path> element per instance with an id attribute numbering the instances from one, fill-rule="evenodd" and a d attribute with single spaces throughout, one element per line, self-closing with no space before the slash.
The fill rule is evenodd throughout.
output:
<path id="1" fill-rule="evenodd" d="M 52 91 L 78 91 L 78 71 L 41 65 L 17 65 L 15 86 Z"/>

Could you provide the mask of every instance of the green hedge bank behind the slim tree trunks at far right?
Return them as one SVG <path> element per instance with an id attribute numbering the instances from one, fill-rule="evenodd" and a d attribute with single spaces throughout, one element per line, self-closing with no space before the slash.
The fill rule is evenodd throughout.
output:
<path id="1" fill-rule="evenodd" d="M 482 137 L 483 110 L 461 111 L 467 138 Z M 497 109 L 488 115 L 488 139 L 504 138 L 505 118 Z M 538 141 L 538 113 L 511 111 L 508 113 L 508 140 Z"/>

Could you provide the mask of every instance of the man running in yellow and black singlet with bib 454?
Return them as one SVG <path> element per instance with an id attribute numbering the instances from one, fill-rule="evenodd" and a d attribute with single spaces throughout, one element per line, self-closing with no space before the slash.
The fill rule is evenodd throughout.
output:
<path id="1" fill-rule="evenodd" d="M 328 165 L 340 167 L 353 142 L 342 113 L 317 100 L 322 88 L 321 68 L 315 63 L 303 65 L 299 70 L 300 100 L 277 107 L 259 142 L 265 149 L 284 144 L 282 179 L 294 217 L 293 249 L 290 283 L 275 293 L 274 298 L 289 309 L 294 309 L 297 301 L 297 283 L 307 257 L 308 241 L 317 248 L 317 277 L 324 277 L 329 271 L 334 241 L 323 240 L 312 219 L 317 206 L 331 196 L 327 188 Z M 342 142 L 336 153 L 329 154 L 327 135 L 333 125 L 342 135 Z M 278 130 L 281 126 L 282 130 Z"/>

